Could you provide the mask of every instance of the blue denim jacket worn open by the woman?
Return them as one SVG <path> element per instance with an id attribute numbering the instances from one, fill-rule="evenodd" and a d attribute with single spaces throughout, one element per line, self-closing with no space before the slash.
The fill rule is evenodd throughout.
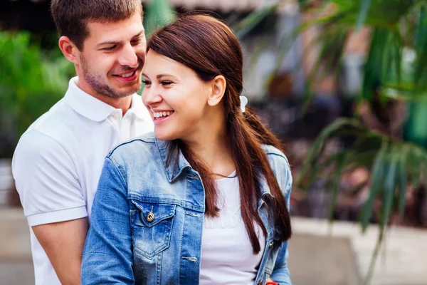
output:
<path id="1" fill-rule="evenodd" d="M 263 147 L 289 206 L 288 160 L 275 147 Z M 181 153 L 176 167 L 166 160 L 167 143 L 153 135 L 124 142 L 107 155 L 83 252 L 82 284 L 199 284 L 204 187 Z M 265 180 L 260 189 L 263 197 L 271 195 Z M 258 212 L 268 237 L 254 284 L 268 277 L 291 284 L 288 242 L 276 237 L 262 199 Z"/>

